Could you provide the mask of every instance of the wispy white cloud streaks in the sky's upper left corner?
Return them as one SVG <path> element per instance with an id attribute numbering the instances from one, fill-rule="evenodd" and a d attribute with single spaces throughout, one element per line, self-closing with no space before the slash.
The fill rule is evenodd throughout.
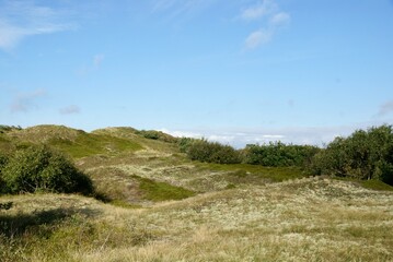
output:
<path id="1" fill-rule="evenodd" d="M 0 48 L 10 50 L 28 36 L 53 34 L 73 28 L 60 22 L 62 15 L 32 2 L 5 1 L 0 3 Z"/>

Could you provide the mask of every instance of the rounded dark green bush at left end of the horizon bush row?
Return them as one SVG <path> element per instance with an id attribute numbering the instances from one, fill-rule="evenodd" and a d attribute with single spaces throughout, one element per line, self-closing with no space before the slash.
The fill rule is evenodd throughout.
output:
<path id="1" fill-rule="evenodd" d="M 187 146 L 187 156 L 192 160 L 217 164 L 241 163 L 239 152 L 230 145 L 222 145 L 218 142 L 209 142 L 201 139 L 192 141 Z"/>

